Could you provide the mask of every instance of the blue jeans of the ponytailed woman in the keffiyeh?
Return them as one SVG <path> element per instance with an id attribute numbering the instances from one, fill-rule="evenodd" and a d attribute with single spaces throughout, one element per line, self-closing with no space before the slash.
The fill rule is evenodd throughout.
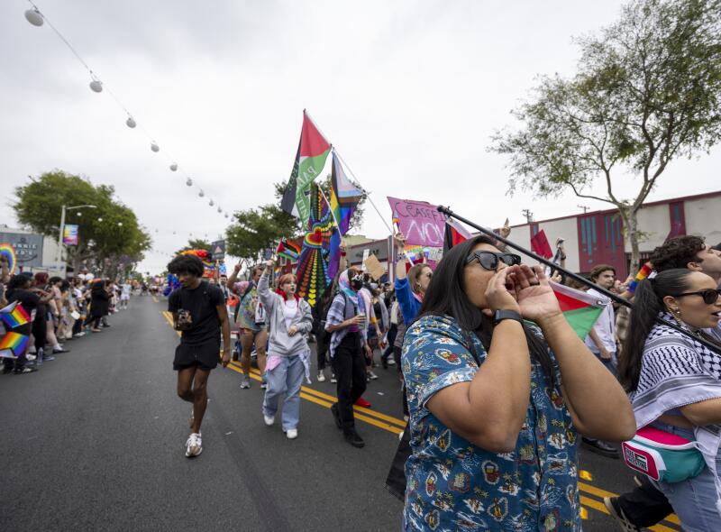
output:
<path id="1" fill-rule="evenodd" d="M 654 421 L 652 427 L 670 432 L 688 440 L 695 440 L 693 431 L 686 428 L 672 427 L 661 421 Z M 716 455 L 716 468 L 721 471 L 721 459 Z M 716 510 L 716 484 L 714 475 L 704 467 L 701 474 L 682 482 L 651 481 L 671 502 L 676 515 L 679 516 L 681 527 L 685 532 L 707 532 L 718 530 L 721 515 Z"/>

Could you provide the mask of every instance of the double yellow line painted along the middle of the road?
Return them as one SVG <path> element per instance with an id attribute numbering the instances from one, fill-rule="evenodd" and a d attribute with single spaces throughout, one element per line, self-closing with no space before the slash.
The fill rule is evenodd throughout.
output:
<path id="1" fill-rule="evenodd" d="M 168 320 L 170 326 L 173 326 L 172 314 L 166 311 L 163 312 L 162 315 L 165 316 L 165 319 Z M 176 333 L 178 334 L 178 336 L 180 335 L 178 331 L 176 331 Z M 243 373 L 240 362 L 231 362 L 230 364 L 228 364 L 228 369 L 237 373 Z M 254 368 L 251 368 L 250 377 L 255 381 L 262 381 L 260 377 L 260 371 Z M 333 405 L 333 403 L 338 400 L 338 398 L 333 395 L 329 395 L 327 393 L 323 393 L 322 391 L 308 388 L 307 386 L 301 386 L 300 397 L 325 408 L 331 408 L 331 405 Z M 388 432 L 391 432 L 395 435 L 399 435 L 406 427 L 406 422 L 404 420 L 398 419 L 397 417 L 387 416 L 386 414 L 371 410 L 370 408 L 353 406 L 353 411 L 356 419 L 360 419 L 361 421 L 365 421 L 370 425 L 382 428 L 383 430 L 387 430 Z M 586 471 L 580 471 L 580 478 L 586 479 L 588 481 L 592 480 L 591 474 Z M 600 488 L 592 486 L 591 484 L 588 484 L 586 482 L 579 482 L 579 490 L 600 499 L 591 499 L 586 495 L 580 496 L 580 503 L 581 505 L 583 505 L 580 509 L 580 516 L 583 519 L 589 518 L 589 512 L 586 507 L 590 509 L 595 509 L 608 515 L 608 510 L 603 503 L 603 498 L 618 497 L 617 493 L 601 490 Z M 677 518 L 675 514 L 672 514 L 671 516 L 666 518 L 666 521 L 674 525 L 680 526 L 679 518 Z M 666 527 L 665 525 L 656 525 L 655 527 L 650 527 L 649 530 L 653 530 L 653 532 L 678 532 L 677 528 Z"/>

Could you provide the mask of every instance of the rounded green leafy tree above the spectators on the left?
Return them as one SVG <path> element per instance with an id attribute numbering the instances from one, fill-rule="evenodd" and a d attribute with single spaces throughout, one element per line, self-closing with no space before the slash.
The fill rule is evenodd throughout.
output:
<path id="1" fill-rule="evenodd" d="M 132 209 L 114 198 L 114 188 L 93 185 L 89 179 L 61 170 L 45 172 L 15 188 L 15 215 L 34 231 L 59 236 L 62 206 L 95 205 L 69 210 L 66 224 L 78 225 L 78 245 L 68 246 L 68 263 L 78 271 L 82 263 L 102 274 L 132 271 L 151 248 L 150 235 L 138 224 Z M 121 268 L 120 264 L 123 264 Z"/>

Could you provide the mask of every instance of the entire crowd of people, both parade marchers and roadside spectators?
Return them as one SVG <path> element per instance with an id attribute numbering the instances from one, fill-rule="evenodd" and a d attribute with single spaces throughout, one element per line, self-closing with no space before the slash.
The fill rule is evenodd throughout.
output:
<path id="1" fill-rule="evenodd" d="M 169 295 L 181 331 L 178 396 L 192 404 L 188 457 L 203 451 L 210 372 L 233 352 L 242 390 L 251 387 L 254 358 L 264 390 L 259 421 L 272 427 L 279 417 L 288 440 L 299 436 L 304 381 L 330 377 L 332 422 L 357 448 L 365 441 L 353 407 L 370 408 L 363 394 L 377 365 L 395 366 L 408 423 L 406 454 L 399 446 L 404 530 L 580 530 L 578 446 L 628 463 L 620 444 L 639 438 L 660 453 L 682 448 L 679 463 L 687 465 L 665 455 L 662 475 L 636 474 L 633 489 L 607 497 L 619 526 L 640 530 L 675 512 L 684 530 L 714 529 L 721 517 L 719 245 L 676 237 L 653 252 L 647 279 L 622 281 L 613 266 L 598 264 L 583 286 L 562 269 L 525 265 L 489 236 L 454 246 L 434 268 L 403 255 L 403 235 L 396 244 L 392 284 L 370 279 L 343 253 L 339 275 L 313 307 L 297 296 L 293 274 L 273 274 L 273 261 L 251 268 L 248 280 L 239 280 L 238 266 L 217 281 L 204 278 L 192 255 L 169 263 L 180 285 Z M 37 371 L 67 353 L 69 340 L 101 332 L 132 292 L 130 283 L 10 276 L 2 266 L 2 305 L 16 301 L 31 316 L 18 331 L 31 348 L 5 358 L 5 373 Z M 551 274 L 601 307 L 585 338 L 561 312 Z"/>

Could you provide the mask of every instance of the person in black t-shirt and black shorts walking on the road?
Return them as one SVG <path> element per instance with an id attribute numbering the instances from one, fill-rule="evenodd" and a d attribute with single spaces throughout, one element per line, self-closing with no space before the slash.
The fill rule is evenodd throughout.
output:
<path id="1" fill-rule="evenodd" d="M 168 271 L 178 277 L 180 288 L 168 299 L 173 324 L 181 331 L 173 370 L 178 371 L 178 397 L 193 403 L 186 456 L 203 452 L 200 424 L 207 406 L 207 381 L 218 365 L 223 331 L 223 367 L 231 361 L 231 329 L 223 290 L 203 280 L 203 262 L 193 255 L 179 255 Z"/>

